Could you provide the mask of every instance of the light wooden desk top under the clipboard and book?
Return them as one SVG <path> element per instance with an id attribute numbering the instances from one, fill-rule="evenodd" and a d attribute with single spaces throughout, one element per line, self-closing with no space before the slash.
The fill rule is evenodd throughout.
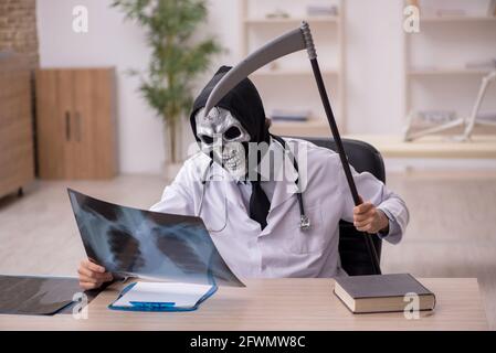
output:
<path id="1" fill-rule="evenodd" d="M 88 319 L 0 315 L 0 330 L 487 330 L 475 278 L 425 278 L 436 293 L 433 312 L 407 320 L 402 312 L 352 314 L 333 293 L 331 279 L 252 279 L 246 288 L 221 287 L 192 312 L 107 309 L 122 285 L 88 306 Z"/>

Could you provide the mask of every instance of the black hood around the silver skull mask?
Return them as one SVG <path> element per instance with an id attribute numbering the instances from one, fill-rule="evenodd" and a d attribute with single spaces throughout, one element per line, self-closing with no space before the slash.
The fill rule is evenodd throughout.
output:
<path id="1" fill-rule="evenodd" d="M 194 99 L 190 122 L 197 141 L 199 141 L 199 138 L 197 137 L 197 122 L 194 116 L 198 110 L 207 105 L 210 93 L 230 69 L 230 66 L 222 66 L 219 68 L 197 99 Z M 231 111 L 231 114 L 240 120 L 241 125 L 252 137 L 251 142 L 270 142 L 268 128 L 265 125 L 264 106 L 255 85 L 249 78 L 244 78 L 238 86 L 231 89 L 231 92 L 219 101 L 217 107 Z"/>

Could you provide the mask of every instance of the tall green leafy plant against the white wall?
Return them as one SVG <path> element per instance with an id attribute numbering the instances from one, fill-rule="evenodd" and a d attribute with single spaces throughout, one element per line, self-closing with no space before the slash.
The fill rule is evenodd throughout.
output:
<path id="1" fill-rule="evenodd" d="M 212 36 L 193 39 L 199 25 L 207 20 L 207 1 L 114 0 L 112 6 L 146 31 L 151 56 L 147 72 L 140 74 L 139 90 L 163 119 L 169 132 L 170 161 L 176 162 L 176 127 L 191 109 L 194 78 L 209 67 L 213 55 L 222 51 Z"/>

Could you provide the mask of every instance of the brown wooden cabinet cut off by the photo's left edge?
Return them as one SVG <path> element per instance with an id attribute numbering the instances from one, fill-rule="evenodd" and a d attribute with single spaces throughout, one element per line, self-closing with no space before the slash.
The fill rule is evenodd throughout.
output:
<path id="1" fill-rule="evenodd" d="M 34 179 L 31 97 L 28 63 L 0 54 L 0 196 Z"/>

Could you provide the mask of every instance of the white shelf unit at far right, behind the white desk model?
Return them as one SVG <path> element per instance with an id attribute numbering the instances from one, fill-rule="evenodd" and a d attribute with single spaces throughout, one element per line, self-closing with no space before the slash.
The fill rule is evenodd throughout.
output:
<path id="1" fill-rule="evenodd" d="M 466 15 L 437 17 L 423 11 L 421 3 L 420 33 L 403 31 L 405 117 L 430 109 L 453 110 L 458 117 L 469 115 L 482 77 L 490 69 L 467 68 L 465 64 L 496 58 L 496 17 L 483 13 L 485 3 L 464 1 Z M 496 111 L 495 87 L 489 88 L 484 108 Z M 415 125 L 418 128 L 429 126 L 432 124 Z M 496 130 L 485 128 L 476 132 L 494 133 Z"/>

